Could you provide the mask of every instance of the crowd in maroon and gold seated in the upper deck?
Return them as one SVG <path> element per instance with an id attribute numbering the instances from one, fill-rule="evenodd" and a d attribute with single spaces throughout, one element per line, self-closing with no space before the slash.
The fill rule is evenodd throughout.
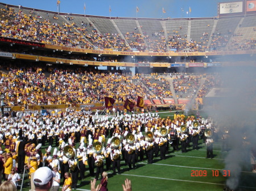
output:
<path id="1" fill-rule="evenodd" d="M 53 15 L 51 22 L 49 14 L 44 18 L 40 14 L 36 15 L 34 11 L 30 11 L 27 15 L 23 9 L 15 11 L 13 8 L 6 7 L 2 8 L 1 12 L 3 13 L 0 24 L 2 37 L 85 49 L 128 52 L 134 49 L 143 52 L 168 52 L 169 49 L 175 52 L 202 52 L 208 49 L 209 34 L 207 32 L 202 33 L 201 41 L 188 40 L 187 35 L 179 33 L 179 29 L 174 30 L 172 34 L 167 31 L 167 39 L 164 31 L 154 32 L 151 35 L 142 34 L 139 31 L 126 32 L 123 39 L 119 33 L 100 33 L 92 23 L 89 25 L 81 23 L 81 26 L 77 26 L 80 24 L 73 22 L 74 18 L 71 15 L 68 17 L 65 15 L 69 19 L 60 24 L 59 15 L 56 14 Z M 71 20 L 73 23 L 70 22 Z M 213 33 L 210 50 L 225 48 L 231 36 L 230 32 Z M 254 41 L 250 39 L 246 43 L 238 43 L 241 46 L 238 49 L 254 49 Z"/>

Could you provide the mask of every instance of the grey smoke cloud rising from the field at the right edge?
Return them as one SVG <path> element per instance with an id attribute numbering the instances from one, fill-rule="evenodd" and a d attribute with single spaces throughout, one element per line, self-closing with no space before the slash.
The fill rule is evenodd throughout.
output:
<path id="1" fill-rule="evenodd" d="M 225 67 L 221 72 L 222 91 L 211 101 L 207 113 L 214 116 L 219 136 L 228 131 L 225 169 L 230 170 L 226 185 L 234 190 L 240 185 L 241 171 L 251 171 L 250 152 L 256 145 L 255 67 Z M 205 103 L 207 107 L 207 103 Z M 223 146 L 224 146 L 223 145 Z M 226 149 L 226 148 L 225 148 Z"/>

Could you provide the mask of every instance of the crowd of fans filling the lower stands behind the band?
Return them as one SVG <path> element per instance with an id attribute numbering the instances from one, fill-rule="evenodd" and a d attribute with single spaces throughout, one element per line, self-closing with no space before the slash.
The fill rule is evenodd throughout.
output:
<path id="1" fill-rule="evenodd" d="M 191 97 L 200 86 L 201 75 L 177 74 L 173 79 L 175 94 Z M 213 82 L 208 79 L 198 97 L 202 97 L 205 88 L 212 87 Z M 136 100 L 138 96 L 144 99 L 173 96 L 168 79 L 157 73 L 132 76 L 82 67 L 10 65 L 1 74 L 0 88 L 6 105 L 22 105 L 24 108 L 28 105 L 104 103 L 105 96 L 113 97 L 117 102 L 126 98 Z"/>

